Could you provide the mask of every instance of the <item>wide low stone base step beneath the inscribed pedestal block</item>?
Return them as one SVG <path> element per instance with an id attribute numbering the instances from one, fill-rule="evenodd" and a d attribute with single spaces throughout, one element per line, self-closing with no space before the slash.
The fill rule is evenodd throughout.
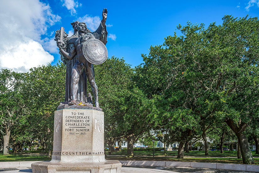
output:
<path id="1" fill-rule="evenodd" d="M 37 162 L 31 164 L 33 173 L 119 173 L 121 163 L 118 160 L 105 160 L 99 163 L 55 163 Z"/>

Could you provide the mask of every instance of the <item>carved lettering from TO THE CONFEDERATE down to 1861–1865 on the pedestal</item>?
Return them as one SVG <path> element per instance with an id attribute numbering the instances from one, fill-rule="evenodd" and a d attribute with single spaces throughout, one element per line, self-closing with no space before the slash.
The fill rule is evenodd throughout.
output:
<path id="1" fill-rule="evenodd" d="M 65 132 L 69 135 L 86 135 L 92 126 L 90 117 L 84 112 L 72 112 L 65 116 Z"/>

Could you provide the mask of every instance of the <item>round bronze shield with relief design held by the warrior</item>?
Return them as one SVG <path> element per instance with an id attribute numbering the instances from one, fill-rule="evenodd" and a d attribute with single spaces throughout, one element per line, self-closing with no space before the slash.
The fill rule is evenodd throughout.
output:
<path id="1" fill-rule="evenodd" d="M 95 38 L 84 42 L 83 54 L 84 58 L 91 64 L 102 64 L 108 57 L 108 51 L 103 42 Z"/>

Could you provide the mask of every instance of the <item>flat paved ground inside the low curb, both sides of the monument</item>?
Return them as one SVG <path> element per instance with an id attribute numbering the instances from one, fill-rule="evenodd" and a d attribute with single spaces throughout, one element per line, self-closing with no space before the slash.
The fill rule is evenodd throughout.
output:
<path id="1" fill-rule="evenodd" d="M 1 173 L 20 173 L 32 172 L 30 167 L 17 167 L 17 168 L 2 168 Z M 123 166 L 121 173 L 251 173 L 240 172 L 231 170 L 212 170 L 200 168 L 185 168 L 185 167 L 153 167 L 153 166 Z"/>

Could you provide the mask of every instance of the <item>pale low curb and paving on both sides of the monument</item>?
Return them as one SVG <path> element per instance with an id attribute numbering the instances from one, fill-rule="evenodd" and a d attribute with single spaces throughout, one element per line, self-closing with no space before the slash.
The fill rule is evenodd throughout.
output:
<path id="1" fill-rule="evenodd" d="M 39 161 L 0 162 L 0 172 L 31 172 L 31 164 Z M 122 173 L 179 172 L 179 173 L 247 173 L 259 172 L 259 165 L 223 164 L 203 162 L 120 160 Z M 136 170 L 136 171 L 135 171 Z M 141 171 L 137 171 L 141 170 Z"/>

